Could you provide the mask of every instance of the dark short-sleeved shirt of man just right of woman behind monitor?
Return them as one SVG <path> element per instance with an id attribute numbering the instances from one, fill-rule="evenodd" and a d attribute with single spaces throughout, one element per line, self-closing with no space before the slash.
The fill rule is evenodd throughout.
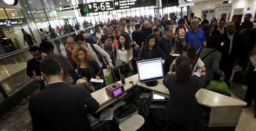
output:
<path id="1" fill-rule="evenodd" d="M 171 47 L 173 47 L 173 40 L 171 38 L 165 39 L 164 37 L 161 37 L 158 41 L 159 47 L 167 56 L 169 56 L 171 53 Z"/>

